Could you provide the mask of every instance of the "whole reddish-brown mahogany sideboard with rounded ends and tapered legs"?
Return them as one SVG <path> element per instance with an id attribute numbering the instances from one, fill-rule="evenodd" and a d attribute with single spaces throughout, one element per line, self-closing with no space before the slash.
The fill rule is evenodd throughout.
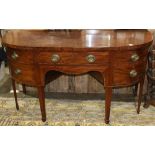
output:
<path id="1" fill-rule="evenodd" d="M 16 108 L 15 81 L 38 89 L 46 121 L 44 87 L 62 74 L 88 73 L 105 88 L 105 123 L 109 123 L 112 89 L 139 84 L 137 113 L 143 92 L 148 30 L 10 30 L 2 39 L 7 51 Z M 79 83 L 80 84 L 80 83 Z"/>

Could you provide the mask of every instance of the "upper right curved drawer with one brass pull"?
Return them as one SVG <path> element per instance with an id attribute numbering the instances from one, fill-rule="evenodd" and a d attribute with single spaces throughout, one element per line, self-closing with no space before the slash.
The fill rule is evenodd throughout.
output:
<path id="1" fill-rule="evenodd" d="M 114 62 L 131 62 L 137 63 L 139 61 L 143 61 L 146 59 L 148 55 L 148 51 L 117 51 L 114 52 Z"/>

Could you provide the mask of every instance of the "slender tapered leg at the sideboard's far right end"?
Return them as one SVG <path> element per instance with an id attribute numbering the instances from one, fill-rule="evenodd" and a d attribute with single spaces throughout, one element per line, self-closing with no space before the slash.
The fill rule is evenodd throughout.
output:
<path id="1" fill-rule="evenodd" d="M 142 78 L 139 85 L 137 114 L 140 113 L 140 106 L 141 106 L 142 95 L 143 95 L 143 85 L 144 85 L 144 78 Z"/>

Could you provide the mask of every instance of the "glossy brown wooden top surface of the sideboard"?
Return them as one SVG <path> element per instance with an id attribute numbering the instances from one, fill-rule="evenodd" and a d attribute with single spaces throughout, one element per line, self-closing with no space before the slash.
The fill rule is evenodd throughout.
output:
<path id="1" fill-rule="evenodd" d="M 4 46 L 11 48 L 121 48 L 151 44 L 148 30 L 9 30 Z"/>

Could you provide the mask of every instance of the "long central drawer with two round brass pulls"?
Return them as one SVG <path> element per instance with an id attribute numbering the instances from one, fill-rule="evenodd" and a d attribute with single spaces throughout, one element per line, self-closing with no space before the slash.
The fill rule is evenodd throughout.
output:
<path id="1" fill-rule="evenodd" d="M 53 65 L 92 65 L 108 62 L 108 52 L 40 52 L 37 62 Z"/>

